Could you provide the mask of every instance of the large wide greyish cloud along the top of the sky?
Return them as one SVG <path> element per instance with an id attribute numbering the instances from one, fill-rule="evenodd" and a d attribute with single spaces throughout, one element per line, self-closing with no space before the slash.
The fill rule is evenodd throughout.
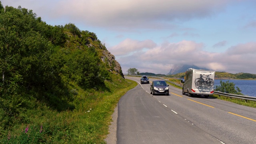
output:
<path id="1" fill-rule="evenodd" d="M 168 26 L 174 20 L 210 16 L 222 10 L 228 1 L 61 0 L 56 4 L 56 14 L 72 21 L 79 18 L 91 26 L 152 28 Z"/>

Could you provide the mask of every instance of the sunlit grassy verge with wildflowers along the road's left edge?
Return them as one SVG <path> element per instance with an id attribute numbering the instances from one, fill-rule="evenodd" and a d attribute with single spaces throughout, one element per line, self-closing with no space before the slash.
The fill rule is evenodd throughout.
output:
<path id="1" fill-rule="evenodd" d="M 111 74 L 106 90 L 83 90 L 70 82 L 76 95 L 72 110 L 57 111 L 37 100 L 24 112 L 24 120 L 0 130 L 1 144 L 105 144 L 112 113 L 119 99 L 137 83 Z M 0 116 L 4 111 L 0 111 Z M 1 129 L 1 128 L 0 128 Z"/>

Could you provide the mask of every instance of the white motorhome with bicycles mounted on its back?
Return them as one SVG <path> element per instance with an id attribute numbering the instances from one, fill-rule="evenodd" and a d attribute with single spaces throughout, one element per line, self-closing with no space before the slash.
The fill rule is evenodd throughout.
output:
<path id="1" fill-rule="evenodd" d="M 189 68 L 182 80 L 182 94 L 188 96 L 202 95 L 208 98 L 214 92 L 214 74 L 212 70 L 196 70 Z"/>

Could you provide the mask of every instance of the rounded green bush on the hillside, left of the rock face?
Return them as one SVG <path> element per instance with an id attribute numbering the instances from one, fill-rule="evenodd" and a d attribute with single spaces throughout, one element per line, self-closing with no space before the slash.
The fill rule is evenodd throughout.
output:
<path id="1" fill-rule="evenodd" d="M 65 75 L 79 86 L 87 89 L 104 84 L 106 73 L 100 67 L 100 58 L 94 50 L 80 50 L 65 56 Z"/>

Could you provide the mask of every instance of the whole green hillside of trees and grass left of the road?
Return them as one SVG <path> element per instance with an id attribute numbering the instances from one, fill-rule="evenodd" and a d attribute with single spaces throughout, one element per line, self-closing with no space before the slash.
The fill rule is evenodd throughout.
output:
<path id="1" fill-rule="evenodd" d="M 0 2 L 0 143 L 104 143 L 134 83 L 112 73 L 103 50 L 93 32 Z"/>

